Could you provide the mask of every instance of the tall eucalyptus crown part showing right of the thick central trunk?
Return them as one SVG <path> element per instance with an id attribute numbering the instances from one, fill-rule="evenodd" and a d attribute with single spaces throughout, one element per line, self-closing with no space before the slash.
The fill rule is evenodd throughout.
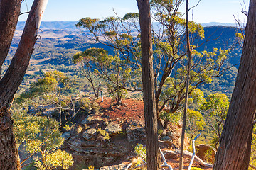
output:
<path id="1" fill-rule="evenodd" d="M 165 105 L 171 112 L 181 108 L 185 98 L 186 89 L 186 50 L 183 50 L 183 31 L 186 28 L 183 13 L 177 12 L 182 1 L 151 0 L 153 17 L 160 24 L 159 30 L 154 34 L 154 75 L 156 78 L 156 101 L 161 103 L 161 111 Z M 203 39 L 204 30 L 200 24 L 189 21 L 188 29 L 191 39 Z M 164 31 L 163 31 L 164 30 Z M 160 34 L 160 35 L 159 35 Z M 213 52 L 196 50 L 191 41 L 192 62 L 189 94 L 196 98 L 199 86 L 209 84 L 213 77 L 219 77 L 225 67 L 223 62 L 227 59 L 228 50 L 213 49 Z M 193 92 L 195 91 L 195 92 Z M 203 94 L 203 92 L 199 92 Z M 198 95 L 199 95 L 198 94 Z M 203 102 L 203 95 L 198 96 L 198 102 Z M 191 107 L 198 109 L 200 103 L 190 99 Z M 193 105 L 193 106 L 192 106 Z"/>

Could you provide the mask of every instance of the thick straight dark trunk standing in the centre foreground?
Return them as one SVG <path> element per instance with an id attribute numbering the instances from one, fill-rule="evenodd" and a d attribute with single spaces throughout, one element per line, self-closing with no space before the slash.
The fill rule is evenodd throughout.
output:
<path id="1" fill-rule="evenodd" d="M 160 169 L 157 115 L 154 94 L 153 49 L 149 0 L 137 0 L 142 40 L 142 83 L 146 130 L 147 169 Z"/>

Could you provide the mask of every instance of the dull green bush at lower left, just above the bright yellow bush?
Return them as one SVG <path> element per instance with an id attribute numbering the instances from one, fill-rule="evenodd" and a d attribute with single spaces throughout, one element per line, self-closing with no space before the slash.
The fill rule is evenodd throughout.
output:
<path id="1" fill-rule="evenodd" d="M 50 135 L 51 132 L 53 133 Z M 48 151 L 63 145 L 63 138 L 61 138 L 60 130 L 58 130 L 58 122 L 46 117 L 27 115 L 21 119 L 14 118 L 14 134 L 18 145 L 26 142 L 28 153 L 33 152 L 49 135 L 47 142 L 37 152 Z"/>

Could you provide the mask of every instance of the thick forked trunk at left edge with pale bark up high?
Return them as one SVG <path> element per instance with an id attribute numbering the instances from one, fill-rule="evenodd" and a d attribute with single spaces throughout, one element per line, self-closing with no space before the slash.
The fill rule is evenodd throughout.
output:
<path id="1" fill-rule="evenodd" d="M 19 1 L 21 2 L 21 0 Z M 1 5 L 2 2 L 4 1 L 0 0 Z M 11 60 L 11 64 L 6 71 L 6 74 L 4 74 L 4 77 L 0 81 L 0 169 L 20 169 L 18 150 L 16 149 L 13 133 L 13 124 L 11 115 L 7 112 L 7 108 L 14 98 L 14 94 L 26 73 L 47 2 L 48 0 L 35 0 L 33 2 L 16 54 L 14 55 L 13 60 Z M 11 5 L 12 7 L 10 8 L 16 8 L 16 6 L 20 4 L 17 2 L 17 4 Z M 0 6 L 0 8 L 2 8 L 2 6 Z M 19 13 L 19 10 L 16 10 L 16 12 L 17 11 Z M 1 11 L 1 16 L 9 16 L 9 13 L 11 13 L 11 11 L 8 10 L 5 12 L 6 13 L 3 14 Z M 6 20 L 6 22 L 9 22 L 9 20 Z M 10 30 L 15 30 L 16 22 L 17 21 L 14 20 L 7 24 L 8 27 L 11 24 L 11 27 L 9 28 Z M 0 22 L 0 25 L 0 28 L 2 28 L 4 23 Z M 0 35 L 0 38 L 3 38 L 0 39 L 0 44 L 5 39 L 10 39 L 10 36 L 13 36 L 13 33 L 6 34 L 6 37 L 1 37 Z M 0 50 L 0 54 L 4 54 L 5 51 L 1 48 Z"/>

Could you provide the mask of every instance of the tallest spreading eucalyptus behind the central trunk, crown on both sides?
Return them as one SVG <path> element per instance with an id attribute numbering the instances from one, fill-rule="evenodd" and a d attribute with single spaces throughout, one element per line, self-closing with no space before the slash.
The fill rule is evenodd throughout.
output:
<path id="1" fill-rule="evenodd" d="M 154 91 L 156 107 L 159 113 L 169 105 L 171 113 L 182 107 L 186 89 L 186 22 L 183 14 L 178 12 L 183 0 L 151 0 L 153 30 L 153 67 Z M 117 86 L 128 91 L 141 91 L 141 28 L 137 13 L 127 13 L 124 17 L 112 16 L 103 20 L 97 18 L 82 18 L 76 26 L 82 33 L 95 42 L 109 46 L 118 51 L 120 60 L 125 61 L 125 67 L 131 68 L 134 83 Z M 228 50 L 213 49 L 212 52 L 198 52 L 196 39 L 204 38 L 203 27 L 193 21 L 188 21 L 191 37 L 191 74 L 188 94 L 201 84 L 210 83 L 213 77 L 219 77 L 227 67 Z M 168 86 L 167 86 L 168 84 Z"/>

